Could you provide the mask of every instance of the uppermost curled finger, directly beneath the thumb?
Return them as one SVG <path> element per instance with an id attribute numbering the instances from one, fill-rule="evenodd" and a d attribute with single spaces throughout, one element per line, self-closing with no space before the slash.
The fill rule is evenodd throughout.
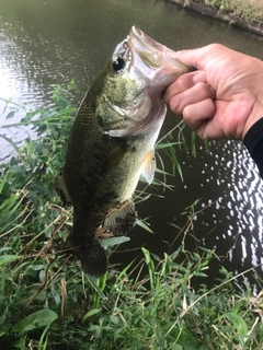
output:
<path id="1" fill-rule="evenodd" d="M 193 88 L 196 83 L 199 82 L 206 82 L 206 73 L 204 71 L 195 71 L 182 74 L 167 89 L 163 94 L 163 101 L 169 104 L 170 100 L 174 95 Z"/>

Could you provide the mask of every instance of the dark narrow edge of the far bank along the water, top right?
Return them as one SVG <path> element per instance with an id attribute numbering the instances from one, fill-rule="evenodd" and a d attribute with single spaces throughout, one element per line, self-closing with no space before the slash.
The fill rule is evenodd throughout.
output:
<path id="1" fill-rule="evenodd" d="M 173 2 L 180 4 L 184 8 L 192 9 L 194 11 L 201 12 L 203 14 L 207 14 L 209 16 L 219 19 L 224 22 L 227 22 L 231 25 L 239 26 L 245 31 L 250 31 L 254 34 L 263 36 L 263 23 L 253 23 L 241 20 L 239 16 L 233 15 L 231 13 L 222 12 L 213 8 L 209 8 L 202 3 L 201 1 L 192 1 L 192 0 L 167 0 L 169 2 Z"/>

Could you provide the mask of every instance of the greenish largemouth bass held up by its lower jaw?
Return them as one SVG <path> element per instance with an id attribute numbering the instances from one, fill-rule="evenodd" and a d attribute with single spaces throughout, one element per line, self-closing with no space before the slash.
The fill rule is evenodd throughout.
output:
<path id="1" fill-rule="evenodd" d="M 191 70 L 133 26 L 81 102 L 56 187 L 73 207 L 67 243 L 87 275 L 107 269 L 100 233 L 117 236 L 135 226 L 139 177 L 148 184 L 155 177 L 155 143 L 167 114 L 162 93 Z"/>

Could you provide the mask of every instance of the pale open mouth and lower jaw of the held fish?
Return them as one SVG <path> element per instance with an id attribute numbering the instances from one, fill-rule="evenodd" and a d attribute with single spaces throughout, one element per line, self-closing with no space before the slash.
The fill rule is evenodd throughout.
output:
<path id="1" fill-rule="evenodd" d="M 167 107 L 162 92 L 181 74 L 193 70 L 175 56 L 175 51 L 156 42 L 137 26 L 132 27 L 113 55 L 114 58 L 127 59 L 128 65 L 123 71 L 128 71 L 130 79 L 137 80 L 136 105 L 122 110 L 132 124 L 127 129 L 108 130 L 106 133 L 112 137 L 138 136 L 163 122 Z"/>

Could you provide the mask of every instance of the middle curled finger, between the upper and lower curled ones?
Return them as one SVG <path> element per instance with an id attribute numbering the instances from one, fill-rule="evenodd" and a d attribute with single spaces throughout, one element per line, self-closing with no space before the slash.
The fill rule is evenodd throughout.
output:
<path id="1" fill-rule="evenodd" d="M 215 92 L 206 83 L 197 83 L 193 88 L 174 95 L 170 101 L 172 112 L 182 114 L 187 105 L 202 102 L 206 98 L 215 98 Z"/>

